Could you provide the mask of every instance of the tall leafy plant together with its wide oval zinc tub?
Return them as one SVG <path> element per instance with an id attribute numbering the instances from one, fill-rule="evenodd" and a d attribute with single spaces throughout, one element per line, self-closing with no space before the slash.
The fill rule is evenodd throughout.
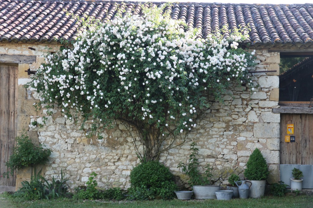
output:
<path id="1" fill-rule="evenodd" d="M 215 191 L 219 191 L 220 186 L 210 186 L 210 178 L 212 177 L 212 168 L 208 164 L 205 166 L 204 174 L 201 175 L 199 171 L 199 159 L 197 143 L 192 142 L 190 145 L 191 154 L 188 159 L 188 166 L 180 162 L 177 168 L 182 168 L 187 176 L 189 176 L 189 183 L 192 185 L 195 199 L 216 199 Z"/>

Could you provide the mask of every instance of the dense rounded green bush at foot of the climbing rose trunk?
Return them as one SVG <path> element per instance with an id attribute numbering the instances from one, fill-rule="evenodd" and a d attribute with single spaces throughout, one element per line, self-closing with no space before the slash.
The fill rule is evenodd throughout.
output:
<path id="1" fill-rule="evenodd" d="M 157 161 L 139 164 L 131 171 L 128 198 L 133 200 L 172 199 L 177 189 L 170 170 Z"/>

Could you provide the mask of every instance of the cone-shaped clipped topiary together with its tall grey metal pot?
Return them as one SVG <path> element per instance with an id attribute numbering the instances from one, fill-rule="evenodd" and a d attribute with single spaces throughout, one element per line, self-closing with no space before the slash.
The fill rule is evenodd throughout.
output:
<path id="1" fill-rule="evenodd" d="M 251 187 L 249 197 L 260 198 L 264 196 L 266 178 L 269 175 L 269 169 L 261 151 L 256 148 L 249 157 L 247 168 L 244 171 L 244 177 L 249 179 Z"/>

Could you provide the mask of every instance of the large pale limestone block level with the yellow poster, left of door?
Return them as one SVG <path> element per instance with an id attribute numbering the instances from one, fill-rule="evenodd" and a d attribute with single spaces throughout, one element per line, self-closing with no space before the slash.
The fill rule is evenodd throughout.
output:
<path id="1" fill-rule="evenodd" d="M 279 138 L 279 123 L 256 123 L 253 127 L 254 137 L 257 138 Z"/>

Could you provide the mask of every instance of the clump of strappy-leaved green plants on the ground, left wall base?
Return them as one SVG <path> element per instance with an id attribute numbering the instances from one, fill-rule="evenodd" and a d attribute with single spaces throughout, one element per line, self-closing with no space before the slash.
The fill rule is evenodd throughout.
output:
<path id="1" fill-rule="evenodd" d="M 36 169 L 34 175 L 29 181 L 22 181 L 22 188 L 16 191 L 13 196 L 22 197 L 26 200 L 40 200 L 40 199 L 55 199 L 59 196 L 64 196 L 66 194 L 66 179 L 64 179 L 63 171 L 61 171 L 61 179 L 52 179 L 52 183 L 49 183 L 40 172 L 36 174 Z"/>

